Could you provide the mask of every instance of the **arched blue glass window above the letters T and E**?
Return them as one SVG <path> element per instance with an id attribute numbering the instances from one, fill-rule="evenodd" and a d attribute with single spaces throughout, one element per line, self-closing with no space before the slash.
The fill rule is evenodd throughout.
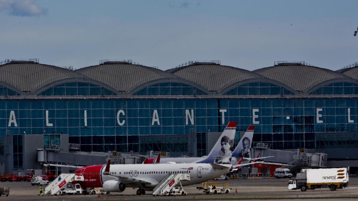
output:
<path id="1" fill-rule="evenodd" d="M 275 84 L 255 82 L 234 87 L 224 95 L 292 95 L 292 92 Z"/>

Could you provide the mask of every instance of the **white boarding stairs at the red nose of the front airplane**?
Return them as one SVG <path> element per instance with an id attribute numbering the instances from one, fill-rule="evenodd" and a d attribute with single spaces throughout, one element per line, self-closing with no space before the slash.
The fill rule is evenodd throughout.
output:
<path id="1" fill-rule="evenodd" d="M 71 174 L 71 173 L 62 173 L 59 175 L 61 180 L 58 181 L 58 177 L 55 178 L 46 188 L 44 189 L 45 195 L 56 195 L 61 188 L 65 187 L 67 183 L 73 181 L 84 181 L 84 177 L 82 174 Z"/>

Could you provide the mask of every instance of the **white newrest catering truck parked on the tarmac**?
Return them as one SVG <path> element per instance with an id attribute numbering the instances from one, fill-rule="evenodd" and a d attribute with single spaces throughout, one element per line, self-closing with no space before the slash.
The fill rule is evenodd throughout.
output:
<path id="1" fill-rule="evenodd" d="M 301 173 L 297 173 L 294 180 L 289 180 L 287 189 L 306 191 L 307 189 L 329 188 L 335 191 L 337 188 L 347 187 L 348 180 L 346 167 L 303 169 Z"/>

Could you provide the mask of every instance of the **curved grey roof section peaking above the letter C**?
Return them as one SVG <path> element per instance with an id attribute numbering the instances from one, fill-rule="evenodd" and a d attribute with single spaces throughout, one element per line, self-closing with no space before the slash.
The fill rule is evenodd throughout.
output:
<path id="1" fill-rule="evenodd" d="M 110 85 L 118 92 L 129 92 L 143 83 L 161 78 L 177 78 L 171 73 L 143 65 L 111 62 L 80 68 L 76 72 Z"/>

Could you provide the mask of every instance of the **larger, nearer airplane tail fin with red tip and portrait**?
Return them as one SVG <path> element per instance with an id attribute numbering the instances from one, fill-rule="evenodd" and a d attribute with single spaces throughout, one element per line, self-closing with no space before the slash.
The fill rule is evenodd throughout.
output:
<path id="1" fill-rule="evenodd" d="M 231 158 L 236 132 L 236 122 L 229 122 L 208 156 L 194 163 L 226 163 Z M 209 136 L 210 137 L 210 136 Z M 228 156 L 228 157 L 227 157 Z"/>

